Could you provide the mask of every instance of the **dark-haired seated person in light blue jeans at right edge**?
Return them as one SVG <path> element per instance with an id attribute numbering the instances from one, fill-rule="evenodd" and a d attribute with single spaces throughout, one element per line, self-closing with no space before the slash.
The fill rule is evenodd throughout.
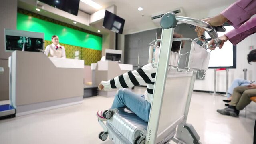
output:
<path id="1" fill-rule="evenodd" d="M 250 62 L 256 62 L 256 50 L 251 50 L 249 54 L 247 55 L 247 61 L 250 64 Z M 230 102 L 233 94 L 234 88 L 238 86 L 248 86 L 252 84 L 255 81 L 249 81 L 249 80 L 243 80 L 243 79 L 235 79 L 231 86 L 228 88 L 227 92 L 227 100 L 223 100 L 224 102 Z"/>

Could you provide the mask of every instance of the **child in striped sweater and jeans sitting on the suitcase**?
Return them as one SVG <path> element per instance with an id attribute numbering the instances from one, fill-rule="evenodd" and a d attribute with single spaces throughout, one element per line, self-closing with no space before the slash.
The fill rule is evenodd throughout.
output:
<path id="1" fill-rule="evenodd" d="M 173 38 L 182 38 L 182 35 L 174 33 Z M 184 42 L 182 42 L 181 48 L 183 48 Z M 171 51 L 178 52 L 180 48 L 180 42 L 173 42 Z M 139 118 L 145 122 L 149 120 L 149 113 L 151 102 L 153 100 L 153 88 L 155 83 L 155 74 L 157 68 L 153 68 L 149 63 L 137 70 L 129 71 L 125 74 L 117 76 L 108 81 L 102 81 L 98 88 L 99 90 L 110 90 L 113 88 L 122 88 L 117 91 L 114 102 L 110 109 L 114 108 L 129 108 Z M 125 88 L 131 88 L 147 83 L 147 90 L 144 95 L 135 94 L 134 92 Z M 106 120 L 103 113 L 106 111 L 98 111 L 97 117 L 100 120 Z"/>

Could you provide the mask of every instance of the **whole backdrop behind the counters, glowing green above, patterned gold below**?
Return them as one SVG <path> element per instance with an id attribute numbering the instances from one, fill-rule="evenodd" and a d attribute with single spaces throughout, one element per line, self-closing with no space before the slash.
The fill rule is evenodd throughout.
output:
<path id="1" fill-rule="evenodd" d="M 79 57 L 85 60 L 85 65 L 91 65 L 91 63 L 101 59 L 101 36 L 70 28 L 72 27 L 71 25 L 62 22 L 56 24 L 50 22 L 49 19 L 26 10 L 18 9 L 17 30 L 43 32 L 45 47 L 51 43 L 51 37 L 57 35 L 60 39 L 60 44 L 65 46 L 67 58 L 74 58 L 75 51 L 79 50 Z"/>

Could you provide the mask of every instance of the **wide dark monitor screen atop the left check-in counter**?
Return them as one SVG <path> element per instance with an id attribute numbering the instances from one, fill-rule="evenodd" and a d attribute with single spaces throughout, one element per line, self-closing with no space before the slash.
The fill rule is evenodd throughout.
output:
<path id="1" fill-rule="evenodd" d="M 23 50 L 23 48 L 24 51 L 30 52 L 43 50 L 43 39 L 6 35 L 6 50 Z"/>

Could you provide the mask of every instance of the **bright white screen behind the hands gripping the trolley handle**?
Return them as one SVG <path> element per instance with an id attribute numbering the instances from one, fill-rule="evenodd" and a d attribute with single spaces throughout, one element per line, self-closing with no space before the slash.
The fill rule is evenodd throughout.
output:
<path id="1" fill-rule="evenodd" d="M 224 26 L 226 32 L 217 32 L 218 36 L 223 36 L 230 30 L 233 30 L 233 26 Z M 206 38 L 211 40 L 208 33 L 205 33 Z M 210 50 L 207 50 L 210 52 Z M 209 68 L 236 68 L 236 46 L 234 46 L 230 41 L 224 43 L 222 49 L 215 48 L 210 52 Z"/>

